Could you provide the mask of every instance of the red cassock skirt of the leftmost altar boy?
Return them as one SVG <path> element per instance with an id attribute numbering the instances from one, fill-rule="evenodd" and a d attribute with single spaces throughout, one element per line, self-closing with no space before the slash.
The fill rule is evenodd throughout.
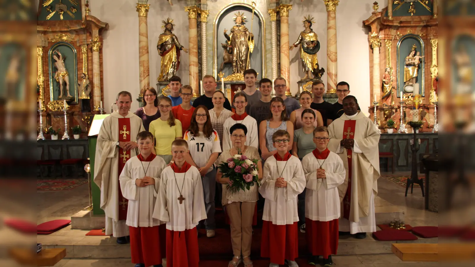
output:
<path id="1" fill-rule="evenodd" d="M 161 264 L 165 257 L 165 224 L 154 227 L 132 227 L 130 231 L 130 250 L 132 263 L 143 263 L 145 266 Z"/>

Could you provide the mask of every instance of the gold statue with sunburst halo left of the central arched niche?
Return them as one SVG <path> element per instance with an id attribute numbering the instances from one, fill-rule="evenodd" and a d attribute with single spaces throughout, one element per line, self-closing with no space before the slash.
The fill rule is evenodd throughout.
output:
<path id="1" fill-rule="evenodd" d="M 165 31 L 160 35 L 157 43 L 158 54 L 161 56 L 158 81 L 168 81 L 180 67 L 180 50 L 188 53 L 188 49 L 180 45 L 178 38 L 172 33 L 175 27 L 173 19 L 167 18 L 161 23 L 163 24 L 161 28 Z"/>

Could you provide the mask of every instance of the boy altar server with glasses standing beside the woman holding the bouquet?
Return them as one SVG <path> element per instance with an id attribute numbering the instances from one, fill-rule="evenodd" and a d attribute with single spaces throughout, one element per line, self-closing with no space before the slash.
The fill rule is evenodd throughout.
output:
<path id="1" fill-rule="evenodd" d="M 269 267 L 298 267 L 297 195 L 305 188 L 304 170 L 300 160 L 287 152 L 292 145 L 287 131 L 276 131 L 272 141 L 277 153 L 266 160 L 259 187 L 259 193 L 266 199 L 261 257 L 270 257 Z"/>

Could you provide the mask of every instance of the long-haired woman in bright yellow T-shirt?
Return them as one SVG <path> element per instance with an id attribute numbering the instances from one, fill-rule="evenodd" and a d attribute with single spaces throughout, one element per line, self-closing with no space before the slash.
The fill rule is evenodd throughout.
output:
<path id="1" fill-rule="evenodd" d="M 173 163 L 171 162 L 171 142 L 182 139 L 181 123 L 171 113 L 170 97 L 161 96 L 158 100 L 158 108 L 161 116 L 150 123 L 149 132 L 155 138 L 155 153 L 170 164 Z"/>

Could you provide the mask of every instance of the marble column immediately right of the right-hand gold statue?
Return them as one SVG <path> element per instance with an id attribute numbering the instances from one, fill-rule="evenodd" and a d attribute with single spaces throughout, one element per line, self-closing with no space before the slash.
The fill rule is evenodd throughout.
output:
<path id="1" fill-rule="evenodd" d="M 336 6 L 339 0 L 323 0 L 327 10 L 327 94 L 336 93 L 337 50 L 336 50 Z"/>

